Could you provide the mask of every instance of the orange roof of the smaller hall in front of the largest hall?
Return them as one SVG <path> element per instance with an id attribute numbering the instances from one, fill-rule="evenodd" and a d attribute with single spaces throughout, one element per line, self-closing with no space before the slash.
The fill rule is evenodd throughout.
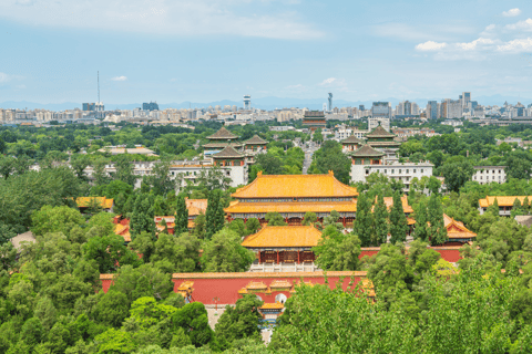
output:
<path id="1" fill-rule="evenodd" d="M 265 226 L 260 231 L 247 236 L 242 246 L 263 247 L 316 247 L 321 237 L 313 226 Z"/>

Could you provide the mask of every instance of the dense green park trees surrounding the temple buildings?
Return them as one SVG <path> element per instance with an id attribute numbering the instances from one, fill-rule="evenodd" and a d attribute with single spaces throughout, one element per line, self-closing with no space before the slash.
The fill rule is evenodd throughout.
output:
<path id="1" fill-rule="evenodd" d="M 298 123 L 299 124 L 299 123 Z M 407 126 L 407 123 L 401 123 Z M 272 343 L 260 340 L 262 302 L 243 296 L 208 325 L 201 303 L 185 303 L 174 293 L 175 272 L 242 272 L 254 253 L 241 246 L 257 232 L 257 219 L 224 219 L 233 188 L 219 175 L 204 175 L 197 186 L 175 194 L 167 167 L 177 158 L 202 154 L 202 144 L 217 123 L 195 131 L 176 127 L 66 125 L 48 128 L 0 128 L 0 352 L 1 353 L 530 353 L 532 352 L 532 231 L 513 216 L 530 215 L 531 202 L 516 202 L 512 217 L 498 206 L 480 215 L 485 196 L 532 195 L 532 153 L 508 136 L 532 139 L 532 129 L 480 127 L 466 123 L 460 133 L 432 126 L 441 136 L 416 136 L 401 145 L 400 157 L 430 160 L 436 177 L 413 180 L 408 204 L 417 220 L 410 230 L 402 209 L 402 184 L 371 175 L 357 184 L 357 218 L 347 232 L 340 215 L 318 219 L 307 212 L 304 225 L 323 231 L 314 249 L 326 271 L 365 270 L 375 301 L 360 283 L 347 291 L 335 284 L 297 287 L 274 329 Z M 269 142 L 249 176 L 300 174 L 304 152 L 294 145 L 310 137 L 269 132 L 267 123 L 231 127 L 241 139 L 258 134 Z M 338 143 L 315 142 L 311 174 L 332 170 L 349 183 L 349 159 Z M 144 145 L 160 158 L 98 152 L 109 145 Z M 82 154 L 86 152 L 88 154 Z M 156 159 L 156 162 L 155 162 Z M 131 162 L 153 160 L 154 175 L 134 189 Z M 72 168 L 64 166 L 70 162 Z M 103 167 L 115 163 L 108 176 Z M 29 170 L 39 163 L 40 171 Z M 508 166 L 505 184 L 471 181 L 473 166 Z M 91 166 L 93 179 L 83 170 Z M 96 205 L 83 214 L 74 198 L 105 196 L 114 211 L 131 220 L 132 241 L 114 233 L 113 217 Z M 188 230 L 185 198 L 208 199 L 205 215 Z M 385 198 L 392 199 L 387 207 Z M 477 232 L 462 259 L 450 264 L 428 246 L 446 240 L 443 214 Z M 175 235 L 154 216 L 175 215 Z M 275 212 L 268 225 L 286 225 Z M 162 228 L 161 228 L 162 226 Z M 9 241 L 31 230 L 34 243 L 14 249 Z M 406 233 L 413 241 L 403 246 Z M 380 246 L 359 258 L 362 247 Z M 104 293 L 100 274 L 114 283 Z"/>

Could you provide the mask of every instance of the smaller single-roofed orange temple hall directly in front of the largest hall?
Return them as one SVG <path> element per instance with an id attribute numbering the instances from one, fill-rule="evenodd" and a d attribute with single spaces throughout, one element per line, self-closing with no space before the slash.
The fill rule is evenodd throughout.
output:
<path id="1" fill-rule="evenodd" d="M 314 226 L 264 226 L 242 246 L 256 254 L 250 271 L 315 271 L 313 247 L 320 238 Z"/>

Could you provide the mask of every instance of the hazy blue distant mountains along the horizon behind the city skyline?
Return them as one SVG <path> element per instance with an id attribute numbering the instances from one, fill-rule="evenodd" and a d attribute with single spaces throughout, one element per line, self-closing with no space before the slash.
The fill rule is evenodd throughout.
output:
<path id="1" fill-rule="evenodd" d="M 449 98 L 449 97 L 447 97 Z M 458 95 L 456 97 L 451 97 L 453 100 L 458 100 Z M 471 97 L 473 101 L 479 102 L 479 104 L 482 105 L 503 105 L 504 102 L 508 102 L 510 104 L 516 104 L 518 102 L 521 102 L 524 105 L 528 105 L 532 103 L 531 98 L 525 98 L 525 97 L 519 97 L 519 96 L 504 96 L 501 94 L 497 95 L 491 95 L 491 96 L 474 96 L 472 95 Z M 428 101 L 437 101 L 441 102 L 442 98 L 409 98 L 408 101 L 410 102 L 416 102 L 419 107 L 423 108 L 427 106 Z M 391 106 L 395 107 L 399 102 L 402 100 L 396 98 L 396 97 L 388 97 L 388 98 L 381 98 L 379 101 L 383 102 L 390 102 Z M 326 103 L 326 98 L 288 98 L 288 97 L 262 97 L 262 98 L 253 98 L 252 97 L 252 107 L 255 108 L 260 108 L 260 110 L 275 110 L 275 108 L 286 108 L 286 107 L 307 107 L 309 110 L 321 110 L 324 103 Z M 346 101 L 346 100 L 334 100 L 332 98 L 332 105 L 335 107 L 358 107 L 359 105 L 364 104 L 366 108 L 371 107 L 374 101 Z M 142 103 L 104 103 L 106 110 L 133 110 L 142 106 Z M 201 103 L 201 102 L 182 102 L 182 103 L 160 103 L 158 107 L 161 110 L 165 108 L 202 108 L 202 107 L 208 107 L 208 106 L 225 106 L 225 105 L 236 105 L 237 107 L 243 106 L 242 101 L 231 101 L 231 100 L 222 100 L 222 101 L 215 101 L 215 102 L 207 102 L 207 103 Z M 74 103 L 74 102 L 64 102 L 64 103 L 49 103 L 49 104 L 42 104 L 42 103 L 34 103 L 34 102 L 27 102 L 27 101 L 21 101 L 21 102 L 13 102 L 13 101 L 8 101 L 8 102 L 2 102 L 0 103 L 0 108 L 16 108 L 16 110 L 35 110 L 35 108 L 42 108 L 42 110 L 50 110 L 50 111 L 64 111 L 64 110 L 74 110 L 74 108 L 80 108 L 81 110 L 82 105 L 81 103 Z"/>

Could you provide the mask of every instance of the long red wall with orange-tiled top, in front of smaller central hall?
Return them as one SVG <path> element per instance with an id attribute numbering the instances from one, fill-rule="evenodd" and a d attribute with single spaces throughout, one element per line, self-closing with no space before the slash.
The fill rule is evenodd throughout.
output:
<path id="1" fill-rule="evenodd" d="M 361 278 L 366 277 L 366 272 L 328 272 L 327 279 L 329 287 L 336 287 L 340 277 L 345 277 L 342 281 L 342 289 L 346 290 L 351 280 L 350 275 L 355 277 L 354 284 L 358 283 Z M 180 273 L 174 274 L 172 281 L 174 282 L 174 291 L 184 281 L 193 281 L 194 289 L 192 298 L 194 301 L 204 304 L 214 304 L 214 298 L 219 298 L 218 304 L 234 304 L 242 296 L 238 290 L 245 288 L 249 282 L 263 282 L 266 287 L 272 284 L 274 280 L 287 280 L 290 283 L 299 283 L 300 280 L 311 282 L 313 284 L 324 284 L 325 278 L 323 272 L 300 272 L 300 273 L 276 273 L 276 272 L 246 272 L 246 273 Z M 275 302 L 275 296 L 279 293 L 290 298 L 289 291 L 272 291 L 272 294 L 257 292 L 264 302 Z"/>

